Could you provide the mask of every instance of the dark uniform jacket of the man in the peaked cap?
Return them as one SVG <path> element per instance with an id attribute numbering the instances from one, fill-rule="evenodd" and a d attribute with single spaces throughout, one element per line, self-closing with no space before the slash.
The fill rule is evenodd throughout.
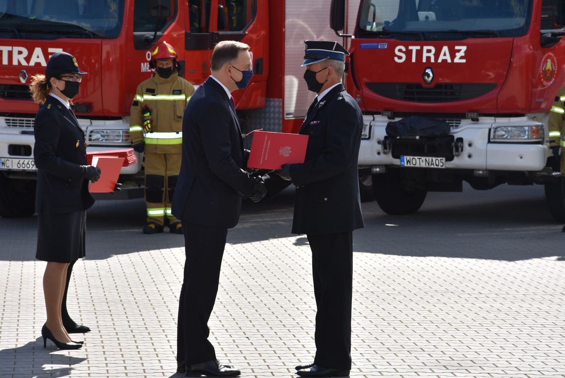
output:
<path id="1" fill-rule="evenodd" d="M 305 162 L 290 165 L 296 186 L 294 234 L 344 233 L 364 226 L 357 170 L 362 130 L 361 109 L 341 84 L 308 109 L 299 131 L 308 135 Z M 288 184 L 271 174 L 268 197 Z"/>

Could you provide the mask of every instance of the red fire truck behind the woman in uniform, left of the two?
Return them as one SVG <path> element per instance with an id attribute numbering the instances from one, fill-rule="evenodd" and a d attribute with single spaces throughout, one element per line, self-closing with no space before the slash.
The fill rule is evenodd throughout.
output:
<path id="1" fill-rule="evenodd" d="M 131 145 L 129 108 L 161 40 L 175 46 L 181 75 L 195 85 L 210 74 L 217 42 L 249 44 L 255 75 L 234 93 L 243 131 L 292 132 L 313 96 L 302 79 L 303 41 L 335 38 L 328 17 L 325 0 L 0 1 L 0 216 L 33 214 L 37 105 L 27 85 L 56 51 L 88 72 L 74 101 L 88 151 Z M 122 197 L 143 195 L 138 161 L 121 171 Z"/>

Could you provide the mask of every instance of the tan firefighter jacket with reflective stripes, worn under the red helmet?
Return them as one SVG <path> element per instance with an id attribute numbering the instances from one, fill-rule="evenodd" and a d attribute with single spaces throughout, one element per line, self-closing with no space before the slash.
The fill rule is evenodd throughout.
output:
<path id="1" fill-rule="evenodd" d="M 174 72 L 167 79 L 155 74 L 137 86 L 129 134 L 132 144 L 145 141 L 146 153 L 182 152 L 182 115 L 194 87 Z"/>

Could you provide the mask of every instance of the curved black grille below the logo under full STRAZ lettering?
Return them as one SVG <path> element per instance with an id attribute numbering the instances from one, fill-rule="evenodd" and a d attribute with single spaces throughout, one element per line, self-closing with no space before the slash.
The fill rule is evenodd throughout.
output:
<path id="1" fill-rule="evenodd" d="M 496 84 L 436 84 L 433 87 L 422 87 L 419 83 L 367 83 L 367 87 L 394 100 L 451 102 L 483 96 L 496 88 Z"/>

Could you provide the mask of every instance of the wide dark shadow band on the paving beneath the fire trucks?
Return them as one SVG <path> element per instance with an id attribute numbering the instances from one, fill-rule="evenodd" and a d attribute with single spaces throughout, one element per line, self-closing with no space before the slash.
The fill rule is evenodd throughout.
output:
<path id="1" fill-rule="evenodd" d="M 290 233 L 294 190 L 273 200 L 244 201 L 228 243 L 295 237 Z M 354 251 L 468 259 L 565 259 L 565 234 L 547 211 L 542 187 L 501 186 L 487 192 L 430 193 L 419 212 L 389 216 L 373 201 L 363 203 L 365 228 L 354 232 Z M 336 220 L 339 222 L 340 220 Z M 34 260 L 37 219 L 0 218 L 0 260 Z M 144 235 L 145 203 L 97 201 L 87 215 L 86 258 L 108 259 L 132 252 L 184 247 L 182 235 Z M 124 242 L 124 239 L 126 240 Z M 290 241 L 289 241 L 290 243 Z M 307 245 L 305 235 L 292 241 Z"/>

